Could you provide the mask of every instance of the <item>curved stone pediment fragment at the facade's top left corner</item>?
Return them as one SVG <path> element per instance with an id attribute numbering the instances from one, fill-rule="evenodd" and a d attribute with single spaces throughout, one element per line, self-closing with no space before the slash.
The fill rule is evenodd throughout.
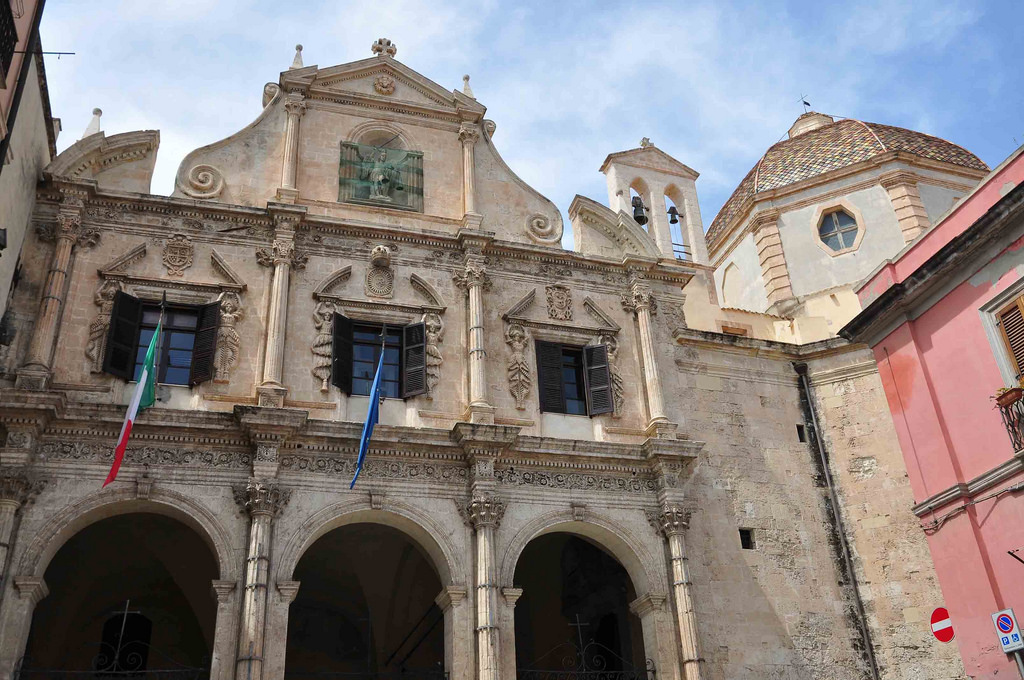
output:
<path id="1" fill-rule="evenodd" d="M 45 171 L 54 177 L 93 179 L 100 188 L 148 194 L 159 147 L 159 130 L 110 137 L 96 132 L 57 155 Z"/>

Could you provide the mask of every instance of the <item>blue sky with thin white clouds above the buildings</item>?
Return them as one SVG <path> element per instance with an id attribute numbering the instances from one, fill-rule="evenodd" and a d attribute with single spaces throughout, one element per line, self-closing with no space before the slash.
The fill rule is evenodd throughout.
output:
<path id="1" fill-rule="evenodd" d="M 108 134 L 159 129 L 155 194 L 186 153 L 257 116 L 295 43 L 329 67 L 387 37 L 446 88 L 472 76 L 499 152 L 563 214 L 575 194 L 605 202 L 601 161 L 648 136 L 700 173 L 706 227 L 801 94 L 994 166 L 1024 143 L 1020 31 L 1019 2 L 942 0 L 49 0 L 41 29 L 44 49 L 76 52 L 46 57 L 58 148 L 94 107 Z"/>

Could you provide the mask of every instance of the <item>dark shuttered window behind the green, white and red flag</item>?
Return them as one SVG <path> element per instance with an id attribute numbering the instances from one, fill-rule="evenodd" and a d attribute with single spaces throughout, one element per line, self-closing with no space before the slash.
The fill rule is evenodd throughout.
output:
<path id="1" fill-rule="evenodd" d="M 103 356 L 106 373 L 125 380 L 138 380 L 160 313 L 159 304 L 118 293 Z M 210 380 L 219 323 L 220 302 L 167 305 L 164 330 L 157 347 L 157 381 L 166 385 L 198 385 Z"/>

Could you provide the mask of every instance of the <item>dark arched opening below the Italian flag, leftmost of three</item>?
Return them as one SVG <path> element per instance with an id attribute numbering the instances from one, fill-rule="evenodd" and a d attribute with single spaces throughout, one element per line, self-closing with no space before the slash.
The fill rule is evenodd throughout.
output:
<path id="1" fill-rule="evenodd" d="M 49 595 L 33 614 L 19 678 L 54 671 L 205 677 L 217 577 L 207 543 L 176 519 L 139 512 L 89 524 L 46 567 Z"/>

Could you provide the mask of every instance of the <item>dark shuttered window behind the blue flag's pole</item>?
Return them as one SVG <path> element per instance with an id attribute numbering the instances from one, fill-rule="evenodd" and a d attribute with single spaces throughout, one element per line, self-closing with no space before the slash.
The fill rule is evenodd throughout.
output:
<path id="1" fill-rule="evenodd" d="M 427 391 L 426 329 L 422 323 L 389 326 L 334 315 L 331 384 L 346 394 L 368 395 L 384 352 L 381 392 L 408 398 Z M 385 333 L 387 338 L 383 340 Z"/>

